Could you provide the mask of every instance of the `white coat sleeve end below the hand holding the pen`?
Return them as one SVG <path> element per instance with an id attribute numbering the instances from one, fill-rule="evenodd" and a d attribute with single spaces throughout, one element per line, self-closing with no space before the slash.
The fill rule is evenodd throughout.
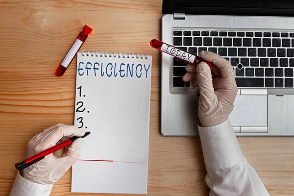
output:
<path id="1" fill-rule="evenodd" d="M 17 172 L 9 196 L 49 196 L 53 185 L 43 185 L 31 182 Z"/>

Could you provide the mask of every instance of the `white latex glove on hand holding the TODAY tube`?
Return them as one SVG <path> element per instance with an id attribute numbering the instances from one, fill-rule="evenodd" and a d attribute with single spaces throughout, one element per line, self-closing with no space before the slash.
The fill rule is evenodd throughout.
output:
<path id="1" fill-rule="evenodd" d="M 198 117 L 202 126 L 214 126 L 223 123 L 231 114 L 237 94 L 235 74 L 231 63 L 218 54 L 201 51 L 199 56 L 209 62 L 197 66 L 188 64 L 183 80 L 191 81 L 191 88 L 199 85 L 200 97 Z"/>

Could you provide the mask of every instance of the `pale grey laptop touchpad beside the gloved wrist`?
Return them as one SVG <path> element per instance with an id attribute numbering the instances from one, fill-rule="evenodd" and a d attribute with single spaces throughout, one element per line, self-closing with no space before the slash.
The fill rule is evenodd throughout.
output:
<path id="1" fill-rule="evenodd" d="M 232 126 L 268 126 L 268 96 L 237 95 L 229 119 Z"/>

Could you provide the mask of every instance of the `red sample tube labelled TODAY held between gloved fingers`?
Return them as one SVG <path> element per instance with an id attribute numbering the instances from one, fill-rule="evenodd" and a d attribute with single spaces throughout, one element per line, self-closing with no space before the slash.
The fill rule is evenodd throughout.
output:
<path id="1" fill-rule="evenodd" d="M 189 52 L 186 52 L 185 50 L 182 50 L 182 49 L 178 49 L 172 45 L 169 45 L 169 44 L 166 44 L 166 43 L 163 43 L 159 40 L 151 40 L 150 41 L 150 46 L 154 49 L 158 49 L 162 52 L 165 52 L 167 54 L 170 54 L 174 57 L 177 57 L 179 59 L 182 59 L 184 61 L 187 61 L 189 63 L 193 63 L 195 65 L 197 65 L 198 63 L 200 62 L 205 62 L 207 63 L 207 65 L 211 68 L 213 63 L 212 62 L 208 62 L 208 61 L 205 61 L 203 60 L 201 57 L 199 56 L 196 56 L 194 54 L 191 54 Z"/>

